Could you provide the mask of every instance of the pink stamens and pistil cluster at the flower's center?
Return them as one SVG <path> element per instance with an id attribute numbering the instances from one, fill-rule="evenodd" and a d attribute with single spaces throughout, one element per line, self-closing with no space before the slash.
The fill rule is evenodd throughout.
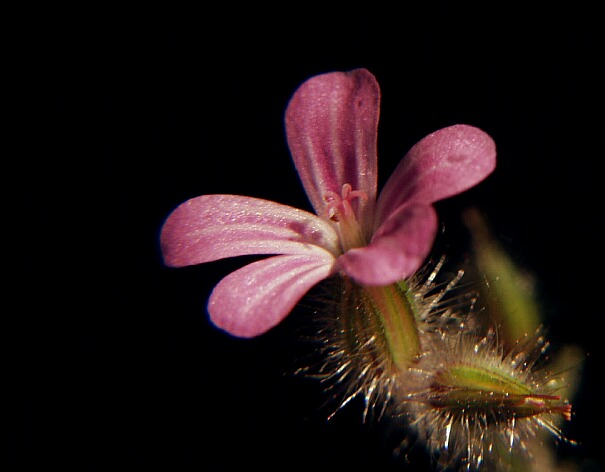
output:
<path id="1" fill-rule="evenodd" d="M 324 195 L 324 200 L 328 204 L 325 210 L 326 217 L 336 223 L 343 252 L 367 244 L 351 204 L 355 198 L 366 201 L 368 195 L 362 190 L 353 190 L 351 184 L 344 184 L 340 195 L 333 191 L 328 191 Z"/>

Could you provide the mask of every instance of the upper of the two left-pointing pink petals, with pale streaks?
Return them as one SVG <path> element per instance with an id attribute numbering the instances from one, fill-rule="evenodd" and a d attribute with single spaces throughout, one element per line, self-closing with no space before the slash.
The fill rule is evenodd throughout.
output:
<path id="1" fill-rule="evenodd" d="M 179 205 L 160 235 L 164 262 L 182 267 L 251 254 L 340 251 L 329 222 L 287 205 L 238 195 L 202 195 Z"/>

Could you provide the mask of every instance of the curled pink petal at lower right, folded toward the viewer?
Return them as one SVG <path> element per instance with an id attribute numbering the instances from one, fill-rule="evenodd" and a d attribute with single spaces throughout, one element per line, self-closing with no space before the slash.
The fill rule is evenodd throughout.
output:
<path id="1" fill-rule="evenodd" d="M 376 231 L 368 246 L 337 259 L 338 268 L 363 285 L 387 285 L 412 275 L 429 254 L 437 233 L 430 205 L 405 206 Z"/>

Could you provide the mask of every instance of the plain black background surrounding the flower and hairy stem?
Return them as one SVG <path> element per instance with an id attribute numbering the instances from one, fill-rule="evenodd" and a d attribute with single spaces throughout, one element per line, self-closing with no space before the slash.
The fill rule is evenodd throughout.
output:
<path id="1" fill-rule="evenodd" d="M 535 275 L 553 346 L 585 353 L 566 425 L 581 444 L 560 455 L 602 470 L 602 25 L 577 2 L 506 5 L 70 10 L 27 24 L 4 470 L 408 470 L 359 404 L 326 423 L 319 386 L 289 375 L 305 350 L 297 312 L 253 340 L 209 324 L 212 287 L 245 261 L 171 270 L 158 247 L 197 195 L 310 209 L 283 113 L 310 76 L 357 67 L 382 90 L 380 185 L 439 128 L 495 139 L 495 173 L 438 209 L 453 240 L 463 208 L 485 211 Z"/>

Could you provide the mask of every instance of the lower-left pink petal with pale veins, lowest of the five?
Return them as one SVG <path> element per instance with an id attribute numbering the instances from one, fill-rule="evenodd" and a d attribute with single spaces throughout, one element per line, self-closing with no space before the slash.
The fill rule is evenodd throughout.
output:
<path id="1" fill-rule="evenodd" d="M 333 262 L 316 254 L 253 262 L 214 288 L 208 301 L 210 318 L 234 336 L 263 334 L 283 320 L 313 285 L 331 274 Z"/>

